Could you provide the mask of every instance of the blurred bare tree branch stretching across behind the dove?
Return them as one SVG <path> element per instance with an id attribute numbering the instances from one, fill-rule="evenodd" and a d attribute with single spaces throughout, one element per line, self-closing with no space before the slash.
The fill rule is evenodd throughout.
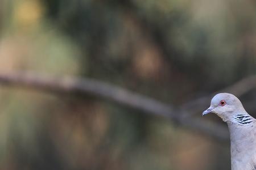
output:
<path id="1" fill-rule="evenodd" d="M 236 94 L 237 92 L 238 95 L 241 95 L 248 90 L 247 83 L 251 84 L 251 88 L 255 87 L 255 80 L 255 77 L 243 79 L 226 89 L 232 91 L 233 94 Z M 207 120 L 201 120 L 201 118 L 191 117 L 191 111 L 188 108 L 198 107 L 203 110 L 209 103 L 209 96 L 193 100 L 187 105 L 184 104 L 184 107 L 174 108 L 170 104 L 164 104 L 158 100 L 151 99 L 150 97 L 88 78 L 56 78 L 35 73 L 13 73 L 0 74 L 0 83 L 6 86 L 33 88 L 35 90 L 59 92 L 61 94 L 78 93 L 80 95 L 94 95 L 138 109 L 144 113 L 170 118 L 170 120 L 177 125 L 181 125 L 197 132 L 199 131 L 219 139 L 220 141 L 227 141 L 229 139 L 228 130 L 224 126 L 214 124 Z M 243 91 L 239 91 L 243 86 L 246 86 L 247 88 L 243 88 Z M 206 105 L 205 99 L 208 99 Z"/>

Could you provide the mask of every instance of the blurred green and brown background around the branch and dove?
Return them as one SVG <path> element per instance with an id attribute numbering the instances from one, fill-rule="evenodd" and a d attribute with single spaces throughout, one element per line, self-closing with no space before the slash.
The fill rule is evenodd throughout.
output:
<path id="1" fill-rule="evenodd" d="M 92 78 L 179 108 L 254 75 L 255 58 L 255 1 L 0 1 L 1 73 Z M 255 117 L 256 91 L 240 99 Z M 206 102 L 187 121 L 225 126 L 201 118 Z M 97 95 L 0 88 L 0 169 L 230 169 L 229 152 Z"/>

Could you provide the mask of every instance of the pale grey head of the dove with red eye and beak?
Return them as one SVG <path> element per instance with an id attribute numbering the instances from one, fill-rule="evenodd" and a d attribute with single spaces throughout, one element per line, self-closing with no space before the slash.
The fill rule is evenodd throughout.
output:
<path id="1" fill-rule="evenodd" d="M 210 107 L 203 112 L 216 113 L 223 121 L 233 121 L 233 117 L 238 113 L 246 113 L 241 101 L 234 95 L 228 93 L 217 94 L 212 98 Z"/>

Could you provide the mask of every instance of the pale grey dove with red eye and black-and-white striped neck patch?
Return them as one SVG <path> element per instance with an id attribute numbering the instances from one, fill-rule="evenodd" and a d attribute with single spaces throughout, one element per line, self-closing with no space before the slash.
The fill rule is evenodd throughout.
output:
<path id="1" fill-rule="evenodd" d="M 256 170 L 256 120 L 234 95 L 220 93 L 203 112 L 215 113 L 228 124 L 232 170 Z"/>

